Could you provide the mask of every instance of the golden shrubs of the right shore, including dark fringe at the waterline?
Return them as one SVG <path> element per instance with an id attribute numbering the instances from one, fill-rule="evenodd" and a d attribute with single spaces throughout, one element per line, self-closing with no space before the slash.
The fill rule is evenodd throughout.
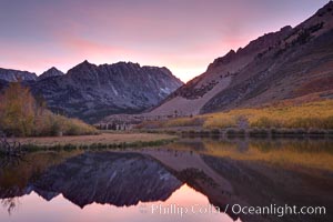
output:
<path id="1" fill-rule="evenodd" d="M 137 128 L 182 135 L 333 137 L 333 100 L 302 104 L 281 102 L 263 108 L 147 121 Z"/>

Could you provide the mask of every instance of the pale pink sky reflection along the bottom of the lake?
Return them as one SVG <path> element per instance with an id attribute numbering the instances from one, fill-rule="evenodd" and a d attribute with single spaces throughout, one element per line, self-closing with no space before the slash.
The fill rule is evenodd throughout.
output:
<path id="1" fill-rule="evenodd" d="M 176 190 L 165 202 L 157 201 L 142 203 L 131 206 L 114 206 L 109 204 L 92 203 L 85 205 L 84 209 L 78 208 L 75 204 L 69 202 L 62 194 L 47 202 L 40 198 L 37 193 L 32 192 L 30 195 L 21 198 L 19 209 L 12 213 L 9 218 L 4 213 L 0 213 L 1 221 L 33 221 L 33 222 L 91 222 L 91 221 L 180 221 L 180 222 L 192 222 L 192 221 L 211 221 L 211 222 L 232 222 L 233 220 L 226 214 L 210 213 L 210 214 L 193 214 L 188 213 L 184 216 L 179 214 L 164 214 L 164 213 L 152 213 L 152 204 L 162 204 L 168 208 L 170 204 L 179 203 L 183 206 L 189 206 L 192 203 L 200 205 L 208 205 L 208 199 L 191 189 L 188 185 L 182 185 Z M 144 206 L 144 208 L 142 208 Z"/>

